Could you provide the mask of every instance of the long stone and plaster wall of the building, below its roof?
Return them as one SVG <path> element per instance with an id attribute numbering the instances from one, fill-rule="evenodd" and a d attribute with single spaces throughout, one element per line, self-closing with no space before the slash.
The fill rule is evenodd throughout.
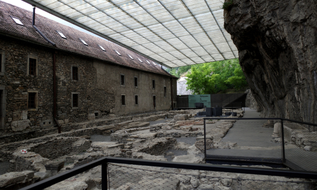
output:
<path id="1" fill-rule="evenodd" d="M 97 118 L 103 118 L 111 113 L 123 115 L 170 108 L 169 76 L 119 67 L 64 51 L 53 51 L 49 47 L 14 38 L 1 38 L 0 43 L 0 54 L 5 60 L 5 72 L 0 72 L 0 110 L 3 114 L 0 117 L 0 129 L 3 129 L 0 139 L 6 139 L 0 142 L 35 138 L 56 130 L 53 127 L 53 53 L 56 56 L 56 117 L 64 131 L 78 129 L 69 123 L 95 119 L 95 114 Z M 29 58 L 37 60 L 35 76 L 28 75 Z M 96 63 L 100 67 L 96 67 Z M 78 80 L 72 79 L 72 67 L 78 68 Z M 101 67 L 107 74 L 105 80 L 101 80 Z M 125 87 L 120 86 L 119 82 L 122 72 L 126 75 Z M 134 88 L 134 76 L 139 77 L 138 88 Z M 152 79 L 156 80 L 155 89 L 152 89 Z M 176 90 L 176 84 L 173 85 Z M 35 109 L 28 109 L 29 93 L 36 93 Z M 121 106 L 121 93 L 127 97 L 128 104 L 125 107 Z M 78 107 L 72 107 L 72 94 L 78 94 Z M 139 105 L 134 105 L 135 94 L 139 94 Z M 157 103 L 155 110 L 154 95 Z M 176 92 L 173 95 L 176 99 Z M 7 140 L 12 134 L 16 134 L 11 138 L 13 140 Z"/>

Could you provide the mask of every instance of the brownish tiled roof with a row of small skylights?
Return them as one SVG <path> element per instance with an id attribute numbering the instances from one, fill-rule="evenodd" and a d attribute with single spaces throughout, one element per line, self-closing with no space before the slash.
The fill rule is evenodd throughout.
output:
<path id="1" fill-rule="evenodd" d="M 133 51 L 108 40 L 89 35 L 36 14 L 35 26 L 48 39 L 56 44 L 56 46 L 53 46 L 33 28 L 32 14 L 33 13 L 31 11 L 0 1 L 0 32 L 29 39 L 45 46 L 51 46 L 55 49 L 65 50 L 160 75 L 172 76 L 164 71 L 157 63 L 157 66 L 155 66 L 151 60 L 134 53 Z M 17 25 L 11 16 L 20 19 L 24 26 Z M 63 33 L 67 39 L 61 38 L 56 31 Z M 79 38 L 85 40 L 88 46 L 85 45 Z M 106 51 L 103 51 L 99 45 L 102 45 Z M 117 50 L 121 56 L 118 55 L 115 50 Z M 131 59 L 128 55 L 132 56 L 133 59 Z M 141 63 L 137 58 L 141 59 L 143 63 Z M 151 65 L 147 62 L 147 60 L 151 63 Z"/>

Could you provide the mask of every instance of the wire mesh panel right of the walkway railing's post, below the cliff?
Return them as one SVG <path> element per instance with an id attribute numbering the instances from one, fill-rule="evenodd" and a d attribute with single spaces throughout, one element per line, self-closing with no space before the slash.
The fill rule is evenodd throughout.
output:
<path id="1" fill-rule="evenodd" d="M 283 121 L 285 165 L 295 170 L 317 171 L 317 132 L 314 126 Z M 279 130 L 281 136 L 282 130 Z M 278 143 L 278 139 L 275 139 Z"/>

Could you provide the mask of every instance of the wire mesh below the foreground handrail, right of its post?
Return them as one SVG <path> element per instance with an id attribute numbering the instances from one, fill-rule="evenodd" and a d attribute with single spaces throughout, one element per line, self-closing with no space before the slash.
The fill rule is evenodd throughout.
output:
<path id="1" fill-rule="evenodd" d="M 313 190 L 316 184 L 298 178 L 108 163 L 108 189 Z"/>

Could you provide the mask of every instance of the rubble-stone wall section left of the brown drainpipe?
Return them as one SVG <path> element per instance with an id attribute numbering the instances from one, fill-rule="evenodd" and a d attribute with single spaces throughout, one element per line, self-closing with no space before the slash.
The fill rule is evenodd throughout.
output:
<path id="1" fill-rule="evenodd" d="M 6 92 L 4 133 L 15 132 L 11 124 L 28 119 L 29 124 L 21 130 L 41 126 L 43 120 L 53 125 L 53 54 L 46 47 L 12 38 L 0 38 L 5 55 L 5 72 L 0 75 L 0 84 Z M 38 61 L 37 76 L 27 75 L 27 60 Z M 28 109 L 28 91 L 38 91 L 37 109 Z M 23 115 L 22 115 L 23 112 Z"/>

